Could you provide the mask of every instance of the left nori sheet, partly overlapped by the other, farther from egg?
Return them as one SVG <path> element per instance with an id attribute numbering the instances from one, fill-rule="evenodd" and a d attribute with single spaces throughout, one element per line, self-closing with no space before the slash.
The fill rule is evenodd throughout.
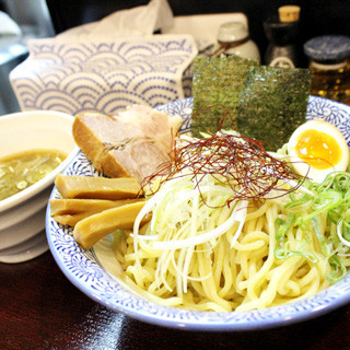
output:
<path id="1" fill-rule="evenodd" d="M 237 105 L 247 69 L 257 65 L 254 60 L 230 57 L 197 57 L 194 61 L 192 95 L 194 109 L 191 133 L 196 137 L 200 131 L 217 132 L 222 118 L 223 108 L 229 108 L 235 120 Z M 214 107 L 211 107 L 214 106 Z M 206 109 L 207 107 L 211 107 Z M 225 118 L 223 129 L 233 129 L 232 120 Z"/>

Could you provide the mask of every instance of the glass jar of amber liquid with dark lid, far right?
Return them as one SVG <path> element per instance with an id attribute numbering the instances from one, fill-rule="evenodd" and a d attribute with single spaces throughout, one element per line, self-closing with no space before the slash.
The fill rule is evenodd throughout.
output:
<path id="1" fill-rule="evenodd" d="M 304 52 L 314 70 L 311 94 L 350 105 L 350 37 L 317 36 L 304 44 Z"/>

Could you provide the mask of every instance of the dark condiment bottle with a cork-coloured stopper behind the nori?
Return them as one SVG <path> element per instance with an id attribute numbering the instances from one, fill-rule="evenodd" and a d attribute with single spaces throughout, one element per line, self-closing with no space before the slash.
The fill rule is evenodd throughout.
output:
<path id="1" fill-rule="evenodd" d="M 298 49 L 300 7 L 279 8 L 279 15 L 264 22 L 265 34 L 270 42 L 265 52 L 265 65 L 273 67 L 299 67 Z"/>

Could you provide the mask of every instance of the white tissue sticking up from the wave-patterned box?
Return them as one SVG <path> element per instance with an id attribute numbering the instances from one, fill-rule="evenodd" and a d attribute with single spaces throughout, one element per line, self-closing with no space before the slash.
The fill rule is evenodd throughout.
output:
<path id="1" fill-rule="evenodd" d="M 151 0 L 147 5 L 121 10 L 103 20 L 66 31 L 57 38 L 96 39 L 130 35 L 151 35 L 173 25 L 173 12 L 166 0 Z"/>

